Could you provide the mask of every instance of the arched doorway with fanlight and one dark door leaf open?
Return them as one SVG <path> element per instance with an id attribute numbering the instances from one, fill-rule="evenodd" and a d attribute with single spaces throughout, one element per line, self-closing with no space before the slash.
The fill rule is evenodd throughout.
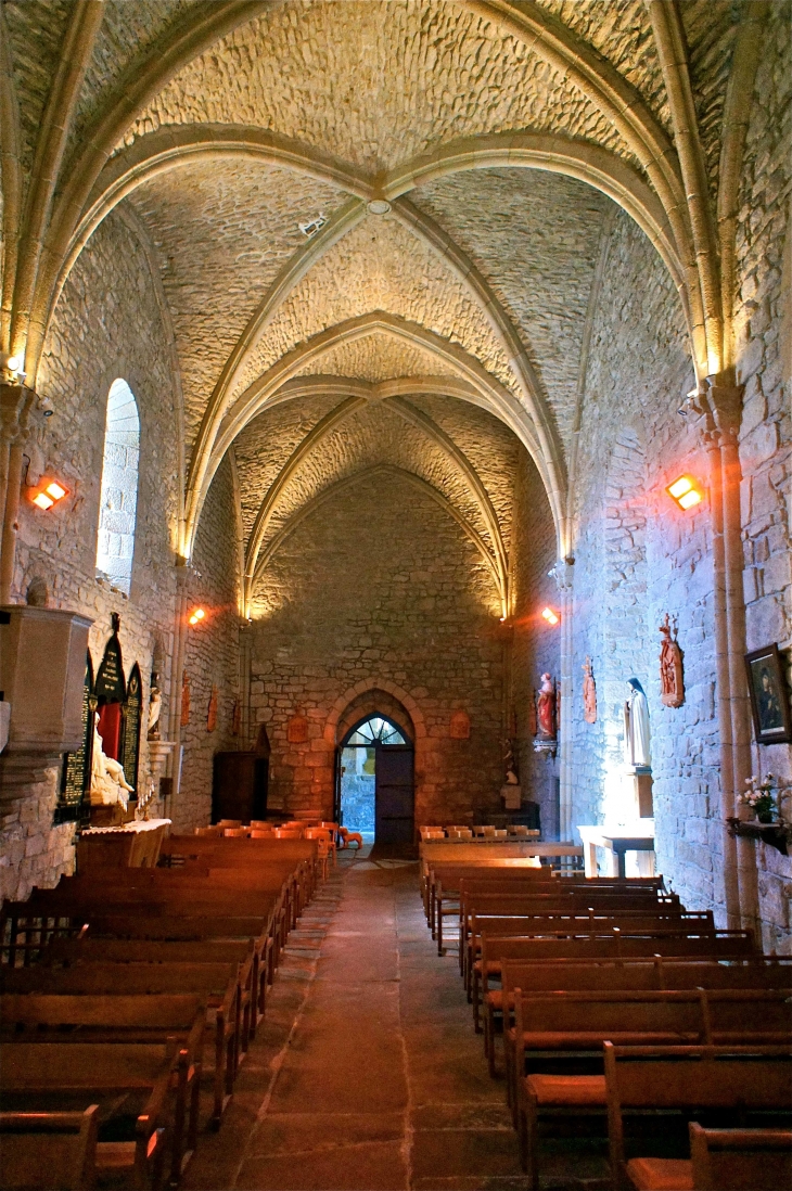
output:
<path id="1" fill-rule="evenodd" d="M 406 730 L 374 712 L 358 719 L 338 746 L 338 822 L 376 843 L 412 843 L 414 750 Z"/>

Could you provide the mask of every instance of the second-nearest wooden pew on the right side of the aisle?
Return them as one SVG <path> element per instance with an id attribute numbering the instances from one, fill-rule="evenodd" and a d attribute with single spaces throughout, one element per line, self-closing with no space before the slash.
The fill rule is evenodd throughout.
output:
<path id="1" fill-rule="evenodd" d="M 685 1178 L 690 1171 L 687 1164 L 680 1167 L 682 1160 L 628 1160 L 624 1116 L 630 1112 L 738 1110 L 741 1116 L 778 1112 L 788 1117 L 790 1047 L 749 1047 L 741 1053 L 734 1047 L 631 1048 L 606 1042 L 604 1052 L 611 1171 L 618 1191 L 668 1186 L 669 1176 Z"/>

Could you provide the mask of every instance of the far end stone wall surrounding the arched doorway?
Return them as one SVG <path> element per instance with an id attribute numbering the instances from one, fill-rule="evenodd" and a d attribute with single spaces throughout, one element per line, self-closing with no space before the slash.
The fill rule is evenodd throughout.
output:
<path id="1" fill-rule="evenodd" d="M 379 687 L 416 729 L 416 822 L 499 807 L 497 593 L 462 531 L 405 478 L 363 473 L 310 513 L 270 561 L 252 617 L 251 705 L 272 743 L 274 803 L 332 812 L 336 724 Z M 449 737 L 457 709 L 466 741 Z M 310 725 L 300 744 L 286 738 L 295 713 Z"/>

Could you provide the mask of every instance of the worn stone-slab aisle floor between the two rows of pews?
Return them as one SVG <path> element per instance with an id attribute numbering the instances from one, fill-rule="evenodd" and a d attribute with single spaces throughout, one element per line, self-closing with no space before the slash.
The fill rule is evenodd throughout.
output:
<path id="1" fill-rule="evenodd" d="M 185 1191 L 526 1191 L 503 1081 L 491 1080 L 441 959 L 417 865 L 343 861 L 289 936 L 267 1017 Z M 601 1142 L 556 1142 L 543 1189 L 604 1186 Z"/>

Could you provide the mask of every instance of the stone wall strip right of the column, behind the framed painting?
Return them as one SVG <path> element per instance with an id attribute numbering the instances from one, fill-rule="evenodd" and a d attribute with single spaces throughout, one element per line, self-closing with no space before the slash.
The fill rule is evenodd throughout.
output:
<path id="1" fill-rule="evenodd" d="M 737 380 L 746 386 L 740 432 L 748 649 L 792 650 L 792 26 L 769 6 L 746 142 L 737 229 Z M 792 678 L 792 673 L 790 674 Z M 788 744 L 754 746 L 753 772 L 792 785 Z M 792 810 L 790 803 L 787 813 Z M 756 846 L 765 946 L 792 949 L 792 861 Z"/>

